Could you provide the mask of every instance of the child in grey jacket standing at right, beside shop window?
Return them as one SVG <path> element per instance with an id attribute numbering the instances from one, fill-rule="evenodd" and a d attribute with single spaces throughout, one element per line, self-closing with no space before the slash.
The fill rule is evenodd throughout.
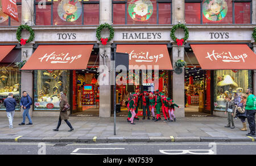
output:
<path id="1" fill-rule="evenodd" d="M 232 101 L 231 99 L 232 99 L 231 96 L 226 97 L 227 102 L 226 102 L 225 114 L 228 112 L 228 125 L 226 125 L 225 127 L 230 127 L 231 129 L 234 129 L 233 114 L 235 110 L 235 105 L 234 105 L 234 101 Z M 232 124 L 232 126 L 230 126 L 230 123 Z"/>

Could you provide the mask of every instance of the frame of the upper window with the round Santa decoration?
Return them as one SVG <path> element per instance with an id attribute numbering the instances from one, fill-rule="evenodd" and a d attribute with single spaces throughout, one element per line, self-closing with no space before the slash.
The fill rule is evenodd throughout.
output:
<path id="1" fill-rule="evenodd" d="M 171 3 L 171 24 L 172 24 L 172 0 L 167 0 L 167 1 L 163 1 L 163 0 L 155 0 L 156 1 L 156 24 L 150 24 L 150 25 L 169 25 L 169 24 L 159 24 L 159 3 Z M 130 25 L 127 24 L 127 0 L 122 1 L 113 1 L 112 0 L 112 24 L 113 24 L 113 15 L 114 15 L 114 10 L 113 10 L 113 4 L 125 4 L 125 25 Z M 115 24 L 118 25 L 118 24 Z M 136 24 L 135 24 L 136 25 Z M 139 25 L 148 25 L 148 24 L 139 24 Z"/>

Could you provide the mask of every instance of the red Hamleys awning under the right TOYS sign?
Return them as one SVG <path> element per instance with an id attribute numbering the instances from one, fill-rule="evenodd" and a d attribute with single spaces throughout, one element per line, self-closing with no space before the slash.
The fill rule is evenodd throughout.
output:
<path id="1" fill-rule="evenodd" d="M 256 54 L 246 44 L 191 44 L 201 69 L 255 70 Z"/>

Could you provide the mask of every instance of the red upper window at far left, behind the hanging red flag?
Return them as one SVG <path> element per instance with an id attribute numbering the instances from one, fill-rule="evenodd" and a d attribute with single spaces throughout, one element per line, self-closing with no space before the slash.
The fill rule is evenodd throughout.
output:
<path id="1" fill-rule="evenodd" d="M 10 18 L 6 14 L 3 13 L 2 6 L 0 6 L 0 26 L 19 26 L 21 24 L 22 20 L 22 0 L 16 0 L 17 10 L 18 10 L 18 18 L 19 22 L 16 22 L 16 20 Z"/>

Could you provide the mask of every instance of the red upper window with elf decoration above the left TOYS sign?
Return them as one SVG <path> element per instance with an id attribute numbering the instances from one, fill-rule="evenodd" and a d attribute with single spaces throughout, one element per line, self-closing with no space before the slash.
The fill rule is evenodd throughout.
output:
<path id="1" fill-rule="evenodd" d="M 97 25 L 100 0 L 35 0 L 36 25 Z"/>

